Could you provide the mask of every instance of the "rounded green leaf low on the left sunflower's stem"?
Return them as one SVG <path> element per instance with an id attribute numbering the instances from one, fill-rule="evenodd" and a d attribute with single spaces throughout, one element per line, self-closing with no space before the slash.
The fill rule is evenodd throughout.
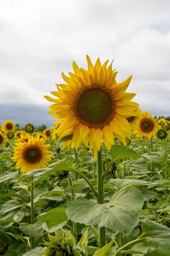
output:
<path id="1" fill-rule="evenodd" d="M 44 230 L 42 229 L 41 222 L 36 222 L 34 224 L 21 223 L 20 229 L 28 236 L 32 236 L 35 239 L 38 239 L 42 236 Z"/>

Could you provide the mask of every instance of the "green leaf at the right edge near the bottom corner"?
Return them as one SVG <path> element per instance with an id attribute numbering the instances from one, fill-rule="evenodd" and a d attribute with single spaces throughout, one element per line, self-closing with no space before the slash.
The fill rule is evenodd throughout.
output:
<path id="1" fill-rule="evenodd" d="M 141 221 L 143 233 L 140 237 L 146 237 L 147 243 L 153 247 L 159 247 L 170 241 L 170 228 L 156 223 L 154 221 L 144 219 Z"/>

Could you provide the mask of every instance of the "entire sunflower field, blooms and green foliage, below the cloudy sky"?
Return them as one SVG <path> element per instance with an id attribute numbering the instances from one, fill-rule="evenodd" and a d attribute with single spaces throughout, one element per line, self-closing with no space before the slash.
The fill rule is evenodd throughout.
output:
<path id="1" fill-rule="evenodd" d="M 0 127 L 0 255 L 170 255 L 170 121 L 87 62 L 45 96 L 53 127 Z"/>

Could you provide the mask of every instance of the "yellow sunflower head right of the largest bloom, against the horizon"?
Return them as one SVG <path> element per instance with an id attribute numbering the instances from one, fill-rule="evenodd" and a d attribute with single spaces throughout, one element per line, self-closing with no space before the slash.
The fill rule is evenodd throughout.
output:
<path id="1" fill-rule="evenodd" d="M 157 130 L 161 128 L 157 121 L 148 112 L 142 112 L 141 119 L 139 121 L 139 126 L 135 128 L 134 134 L 138 138 L 148 138 L 151 139 L 155 137 Z"/>

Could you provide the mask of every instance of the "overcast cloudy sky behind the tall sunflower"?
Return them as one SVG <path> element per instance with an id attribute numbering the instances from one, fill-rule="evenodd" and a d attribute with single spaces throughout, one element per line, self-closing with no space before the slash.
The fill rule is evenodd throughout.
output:
<path id="1" fill-rule="evenodd" d="M 114 59 L 117 82 L 152 115 L 170 115 L 170 0 L 0 0 L 0 125 L 53 126 L 61 73 Z"/>

